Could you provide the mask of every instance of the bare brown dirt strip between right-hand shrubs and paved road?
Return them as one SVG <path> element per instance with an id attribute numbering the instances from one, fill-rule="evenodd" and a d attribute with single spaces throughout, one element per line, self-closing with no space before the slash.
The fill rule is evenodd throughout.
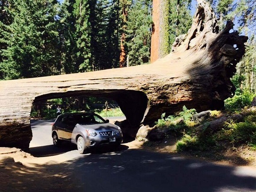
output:
<path id="1" fill-rule="evenodd" d="M 256 151 L 252 151 L 247 146 L 233 148 L 226 146 L 225 149 L 219 151 L 183 151 L 177 152 L 177 138 L 169 137 L 162 141 L 133 141 L 132 146 L 140 147 L 146 151 L 154 151 L 158 153 L 175 154 L 188 158 L 197 158 L 208 162 L 215 162 L 230 166 L 253 166 L 256 168 Z"/>

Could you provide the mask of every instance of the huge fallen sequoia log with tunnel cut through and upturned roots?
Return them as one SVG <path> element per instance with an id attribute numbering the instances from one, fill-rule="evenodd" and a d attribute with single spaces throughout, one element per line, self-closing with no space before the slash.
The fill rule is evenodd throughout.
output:
<path id="1" fill-rule="evenodd" d="M 230 77 L 248 39 L 237 31 L 230 33 L 232 28 L 228 22 L 219 32 L 212 9 L 198 0 L 188 34 L 176 39 L 172 53 L 152 64 L 0 81 L 0 146 L 28 148 L 31 105 L 51 98 L 111 98 L 124 112 L 121 126 L 130 136 L 141 123 L 151 124 L 162 113 L 172 114 L 183 105 L 198 112 L 221 109 L 223 100 L 234 92 Z"/>

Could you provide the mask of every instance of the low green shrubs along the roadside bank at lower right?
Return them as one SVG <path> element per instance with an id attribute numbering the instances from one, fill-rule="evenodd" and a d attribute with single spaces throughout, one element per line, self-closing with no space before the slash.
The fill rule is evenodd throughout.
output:
<path id="1" fill-rule="evenodd" d="M 230 143 L 233 147 L 247 145 L 256 149 L 256 112 L 245 113 L 244 120 L 234 122 L 227 120 L 215 132 L 209 129 L 209 122 L 204 123 L 200 132 L 185 129 L 183 137 L 177 142 L 177 151 L 204 151 L 221 147 L 221 142 Z"/>

